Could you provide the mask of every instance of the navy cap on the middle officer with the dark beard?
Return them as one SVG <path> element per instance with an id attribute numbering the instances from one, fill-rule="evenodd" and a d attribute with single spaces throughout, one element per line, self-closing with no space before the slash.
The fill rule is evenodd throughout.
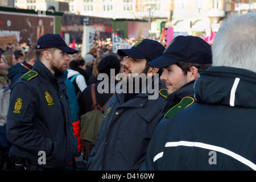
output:
<path id="1" fill-rule="evenodd" d="M 164 46 L 156 40 L 141 39 L 130 49 L 118 49 L 117 53 L 119 56 L 153 60 L 161 56 L 163 51 Z"/>

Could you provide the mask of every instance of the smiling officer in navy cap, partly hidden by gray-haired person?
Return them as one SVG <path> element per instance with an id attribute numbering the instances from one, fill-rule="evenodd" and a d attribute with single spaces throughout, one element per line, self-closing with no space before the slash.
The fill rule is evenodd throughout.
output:
<path id="1" fill-rule="evenodd" d="M 172 125 L 170 119 L 179 113 L 185 107 L 192 105 L 193 85 L 199 77 L 199 69 L 207 69 L 212 64 L 212 50 L 205 40 L 196 36 L 177 36 L 167 46 L 163 55 L 158 59 L 152 60 L 152 67 L 163 68 L 160 79 L 165 82 L 167 89 L 160 90 L 160 94 L 167 97 L 167 104 L 164 107 L 164 117 L 156 127 L 154 137 L 151 143 L 156 146 L 148 146 L 147 157 L 142 166 L 142 170 L 152 169 L 152 154 L 159 154 L 159 148 L 162 148 L 163 141 L 156 138 L 161 135 L 168 135 L 165 130 L 166 125 Z M 161 153 L 160 153 L 161 154 Z"/>

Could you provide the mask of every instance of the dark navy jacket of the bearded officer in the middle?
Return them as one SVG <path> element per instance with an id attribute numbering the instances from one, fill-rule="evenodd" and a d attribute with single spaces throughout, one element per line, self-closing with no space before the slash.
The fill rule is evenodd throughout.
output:
<path id="1" fill-rule="evenodd" d="M 160 88 L 160 86 L 159 86 Z M 88 160 L 89 170 L 138 170 L 155 126 L 163 117 L 164 97 L 149 100 L 139 93 L 125 102 L 126 94 L 108 102 L 96 146 Z"/>

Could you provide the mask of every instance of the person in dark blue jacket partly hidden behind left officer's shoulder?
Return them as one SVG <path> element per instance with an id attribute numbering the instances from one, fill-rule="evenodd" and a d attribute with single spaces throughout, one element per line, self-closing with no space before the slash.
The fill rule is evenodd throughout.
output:
<path id="1" fill-rule="evenodd" d="M 7 77 L 11 80 L 11 88 L 20 80 L 20 77 L 30 71 L 36 60 L 35 48 L 30 49 L 27 58 L 22 63 L 16 63 L 9 69 Z"/>

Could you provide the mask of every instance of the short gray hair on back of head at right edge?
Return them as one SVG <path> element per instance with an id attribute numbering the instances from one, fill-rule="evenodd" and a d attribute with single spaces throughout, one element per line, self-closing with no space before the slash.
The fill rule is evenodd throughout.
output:
<path id="1" fill-rule="evenodd" d="M 227 19 L 212 45 L 213 66 L 256 72 L 256 12 Z"/>

